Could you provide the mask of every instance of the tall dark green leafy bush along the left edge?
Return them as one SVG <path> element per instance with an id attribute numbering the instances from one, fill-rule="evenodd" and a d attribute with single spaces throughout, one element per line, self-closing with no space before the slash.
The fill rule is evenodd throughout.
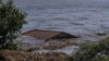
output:
<path id="1" fill-rule="evenodd" d="M 0 49 L 16 49 L 13 42 L 25 24 L 25 13 L 13 5 L 12 0 L 0 0 Z"/>

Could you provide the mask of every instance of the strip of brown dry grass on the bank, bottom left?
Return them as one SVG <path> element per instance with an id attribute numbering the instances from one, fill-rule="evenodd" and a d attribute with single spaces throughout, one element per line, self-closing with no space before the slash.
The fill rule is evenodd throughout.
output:
<path id="1" fill-rule="evenodd" d="M 66 54 L 62 52 L 32 53 L 25 51 L 1 50 L 4 61 L 66 61 Z"/>

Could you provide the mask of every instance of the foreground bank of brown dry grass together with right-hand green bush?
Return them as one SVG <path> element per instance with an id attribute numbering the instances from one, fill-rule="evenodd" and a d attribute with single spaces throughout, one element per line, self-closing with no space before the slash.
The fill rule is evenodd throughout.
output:
<path id="1" fill-rule="evenodd" d="M 77 52 L 68 56 L 64 52 L 31 52 L 25 50 L 0 50 L 0 60 L 4 61 L 105 61 L 109 60 L 109 37 L 97 42 L 81 44 Z M 17 59 L 19 58 L 19 59 Z"/>

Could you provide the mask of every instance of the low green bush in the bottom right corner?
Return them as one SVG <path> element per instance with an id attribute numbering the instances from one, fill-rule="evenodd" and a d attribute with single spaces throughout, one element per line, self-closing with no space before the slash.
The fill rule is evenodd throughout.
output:
<path id="1" fill-rule="evenodd" d="M 109 38 L 97 44 L 85 44 L 69 61 L 109 61 Z"/>

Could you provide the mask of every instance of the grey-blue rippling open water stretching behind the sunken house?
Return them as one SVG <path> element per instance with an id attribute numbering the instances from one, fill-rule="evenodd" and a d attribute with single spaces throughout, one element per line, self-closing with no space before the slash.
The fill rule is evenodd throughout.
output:
<path id="1" fill-rule="evenodd" d="M 14 0 L 27 12 L 23 32 L 39 28 L 89 35 L 109 30 L 109 0 Z"/>

